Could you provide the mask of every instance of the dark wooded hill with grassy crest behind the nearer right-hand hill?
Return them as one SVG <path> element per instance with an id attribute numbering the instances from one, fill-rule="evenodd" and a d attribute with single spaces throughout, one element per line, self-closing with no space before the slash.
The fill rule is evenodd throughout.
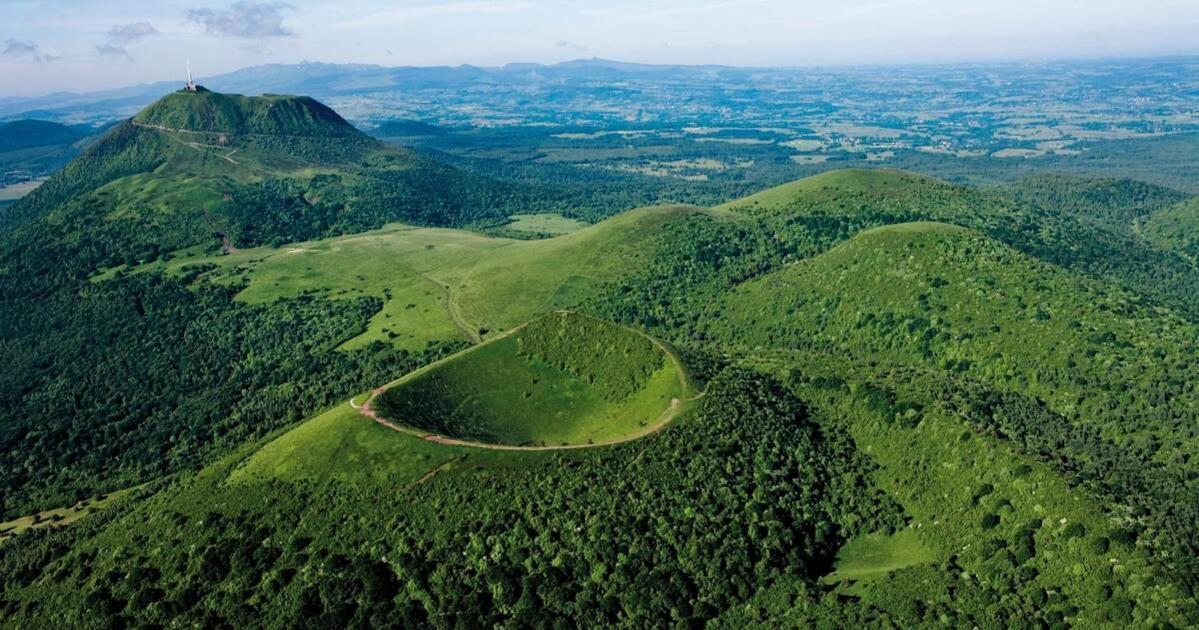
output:
<path id="1" fill-rule="evenodd" d="M 838 170 L 722 208 L 802 230 L 796 247 L 801 258 L 870 227 L 953 223 L 1048 263 L 1199 313 L 1194 262 L 1143 236 L 1138 228 L 1182 198 L 1168 188 L 1127 180 L 1046 175 L 1011 190 L 988 191 L 893 170 Z"/>

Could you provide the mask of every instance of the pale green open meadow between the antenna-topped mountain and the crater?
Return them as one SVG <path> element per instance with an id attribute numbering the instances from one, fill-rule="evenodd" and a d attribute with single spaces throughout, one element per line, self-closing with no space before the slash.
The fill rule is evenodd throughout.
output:
<path id="1" fill-rule="evenodd" d="M 248 281 L 247 302 L 314 295 L 376 296 L 382 308 L 344 348 L 372 341 L 420 349 L 434 340 L 480 340 L 537 313 L 573 306 L 637 268 L 653 228 L 697 211 L 633 210 L 554 239 L 494 239 L 474 232 L 392 224 L 382 229 L 230 254 L 181 252 L 139 270 L 207 269 L 216 282 Z M 97 276 L 108 277 L 114 270 Z"/>

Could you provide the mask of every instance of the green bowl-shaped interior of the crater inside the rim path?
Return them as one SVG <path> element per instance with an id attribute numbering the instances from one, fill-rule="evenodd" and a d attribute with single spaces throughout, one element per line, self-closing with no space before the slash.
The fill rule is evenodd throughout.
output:
<path id="1" fill-rule="evenodd" d="M 631 329 L 554 312 L 414 372 L 370 402 L 400 428 L 507 446 L 632 439 L 687 397 L 682 366 Z"/>

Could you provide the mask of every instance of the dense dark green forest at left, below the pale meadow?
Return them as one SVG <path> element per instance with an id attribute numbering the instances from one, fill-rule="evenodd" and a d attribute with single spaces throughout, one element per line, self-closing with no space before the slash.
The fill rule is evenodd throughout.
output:
<path id="1" fill-rule="evenodd" d="M 234 293 L 146 274 L 46 298 L 37 322 L 7 319 L 0 514 L 198 468 L 457 347 L 337 352 L 378 300 Z"/>

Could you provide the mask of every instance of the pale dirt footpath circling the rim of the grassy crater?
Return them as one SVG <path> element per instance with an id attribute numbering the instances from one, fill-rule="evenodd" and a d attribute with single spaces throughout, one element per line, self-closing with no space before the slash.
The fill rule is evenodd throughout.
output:
<path id="1" fill-rule="evenodd" d="M 559 312 L 566 313 L 566 312 L 570 312 L 570 311 L 559 311 Z M 496 337 L 493 337 L 493 338 L 488 340 L 488 343 L 494 342 L 494 341 L 499 341 L 499 340 L 505 338 L 505 337 L 507 337 L 510 335 L 513 335 L 517 331 L 519 331 L 520 329 L 525 328 L 526 325 L 528 325 L 528 323 L 526 324 L 520 324 L 519 326 L 517 326 L 517 328 L 514 328 L 512 330 L 508 330 L 507 332 L 505 332 L 502 335 L 499 335 Z M 674 350 L 671 350 L 669 347 L 667 347 L 665 343 L 662 343 L 661 341 L 658 341 L 658 340 L 656 340 L 656 338 L 653 338 L 653 337 L 651 337 L 651 336 L 649 336 L 649 335 L 646 335 L 646 334 L 644 334 L 644 332 L 641 332 L 639 330 L 635 330 L 635 329 L 632 329 L 632 328 L 628 328 L 628 326 L 621 326 L 621 328 L 623 328 L 626 330 L 629 330 L 632 332 L 635 332 L 635 334 L 638 334 L 638 335 L 640 335 L 640 336 L 650 340 L 655 346 L 657 346 L 658 349 L 661 349 L 663 352 L 663 354 L 665 354 L 674 362 L 674 365 L 675 365 L 675 372 L 679 376 L 679 384 L 682 386 L 683 391 L 691 391 L 691 383 L 689 383 L 689 380 L 687 378 L 687 371 L 683 368 L 682 361 L 679 360 L 679 356 L 674 353 Z M 493 444 L 493 443 L 488 443 L 488 442 L 471 442 L 471 440 L 465 440 L 465 439 L 448 438 L 448 437 L 445 437 L 445 436 L 439 436 L 436 433 L 429 433 L 427 431 L 418 431 L 418 430 L 412 428 L 412 427 L 408 427 L 408 426 L 403 426 L 403 425 L 392 422 L 391 420 L 387 420 L 387 419 L 380 416 L 379 413 L 370 404 L 372 402 L 374 402 L 375 397 L 378 397 L 384 391 L 386 391 L 386 390 L 388 390 L 388 389 L 391 389 L 391 388 L 393 388 L 396 385 L 399 385 L 402 383 L 405 383 L 405 382 L 408 382 L 408 380 L 417 377 L 421 373 L 424 373 L 424 372 L 427 372 L 429 370 L 433 370 L 434 367 L 436 367 L 436 366 L 439 366 L 439 365 L 441 365 L 441 364 L 444 364 L 446 361 L 451 361 L 451 360 L 458 358 L 460 354 L 463 354 L 465 352 L 472 350 L 474 348 L 477 348 L 477 346 L 472 346 L 470 348 L 466 348 L 465 350 L 463 350 L 460 353 L 451 354 L 450 356 L 446 356 L 445 359 L 441 359 L 439 361 L 434 361 L 434 362 L 432 362 L 432 364 L 429 364 L 429 365 L 427 365 L 427 366 L 424 366 L 424 367 L 422 367 L 420 370 L 410 372 L 410 373 L 400 377 L 399 379 L 397 379 L 397 380 L 394 380 L 392 383 L 388 383 L 388 384 L 382 385 L 380 388 L 375 388 L 375 389 L 370 390 L 370 395 L 367 397 L 366 402 L 363 402 L 362 404 L 357 404 L 353 400 L 350 400 L 350 407 L 357 409 L 360 414 L 362 414 L 366 418 L 369 418 L 370 420 L 374 420 L 375 422 L 378 422 L 382 427 L 390 428 L 392 431 L 398 431 L 400 433 L 406 433 L 409 436 L 414 436 L 414 437 L 421 438 L 423 440 L 433 442 L 435 444 L 441 444 L 441 445 L 445 445 L 445 446 L 468 446 L 468 448 L 472 448 L 472 449 L 487 449 L 487 450 L 495 450 L 495 451 L 556 451 L 556 450 L 574 450 L 574 449 L 594 449 L 594 448 L 600 448 L 600 446 L 614 446 L 616 444 L 623 444 L 626 442 L 633 442 L 635 439 L 641 439 L 641 438 L 644 438 L 646 436 L 652 436 L 653 433 L 657 433 L 658 431 L 662 431 L 667 425 L 670 424 L 671 420 L 674 420 L 679 415 L 679 413 L 683 408 L 683 403 L 692 402 L 692 401 L 698 401 L 698 400 L 703 398 L 704 394 L 705 394 L 705 392 L 700 392 L 699 395 L 692 396 L 689 398 L 671 398 L 670 400 L 670 407 L 668 407 L 665 410 L 663 410 L 662 414 L 658 415 L 658 418 L 651 425 L 646 426 L 641 431 L 638 431 L 637 433 L 632 433 L 629 436 L 625 436 L 625 437 L 616 438 L 616 439 L 609 439 L 609 440 L 604 440 L 604 442 L 595 442 L 595 443 L 591 443 L 591 444 L 564 444 L 564 445 L 558 445 L 558 446 L 516 446 L 516 445 L 508 445 L 508 444 Z"/>

